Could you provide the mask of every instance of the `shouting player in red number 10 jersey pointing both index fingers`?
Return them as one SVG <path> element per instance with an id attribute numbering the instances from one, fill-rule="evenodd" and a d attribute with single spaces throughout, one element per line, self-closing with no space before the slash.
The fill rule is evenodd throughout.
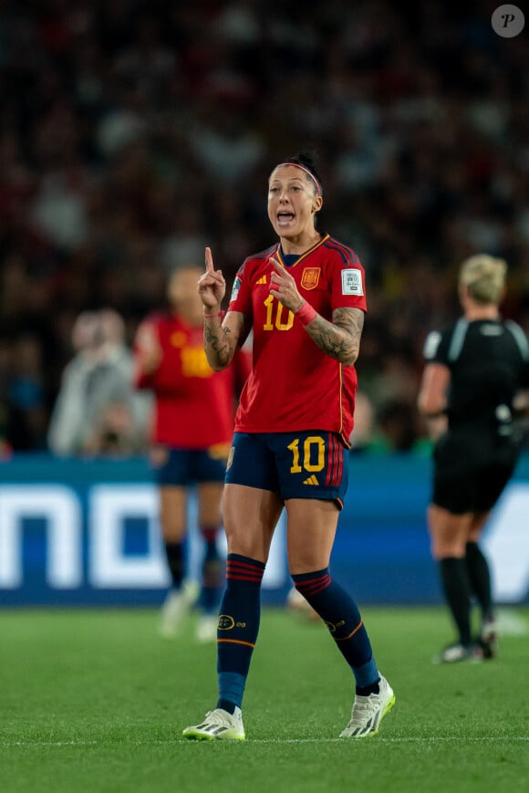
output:
<path id="1" fill-rule="evenodd" d="M 244 738 L 241 705 L 259 629 L 261 580 L 284 506 L 296 589 L 326 621 L 356 680 L 341 736 L 377 733 L 395 701 L 356 603 L 328 569 L 347 489 L 366 297 L 356 254 L 316 229 L 322 203 L 311 160 L 297 156 L 275 167 L 268 217 L 279 242 L 244 261 L 224 318 L 223 274 L 206 248 L 199 293 L 208 360 L 216 370 L 229 366 L 253 328 L 254 361 L 224 486 L 228 559 L 217 633 L 219 699 L 201 724 L 183 731 L 186 737 Z"/>

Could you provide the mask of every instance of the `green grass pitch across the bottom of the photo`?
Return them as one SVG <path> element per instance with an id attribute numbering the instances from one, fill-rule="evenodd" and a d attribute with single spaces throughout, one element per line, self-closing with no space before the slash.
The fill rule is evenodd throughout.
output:
<path id="1" fill-rule="evenodd" d="M 441 609 L 364 609 L 397 704 L 379 736 L 338 739 L 352 677 L 326 629 L 264 610 L 246 741 L 182 739 L 214 706 L 215 649 L 161 640 L 154 610 L 0 612 L 3 793 L 529 790 L 529 636 L 489 663 L 432 666 Z M 519 610 L 529 624 L 529 610 Z"/>

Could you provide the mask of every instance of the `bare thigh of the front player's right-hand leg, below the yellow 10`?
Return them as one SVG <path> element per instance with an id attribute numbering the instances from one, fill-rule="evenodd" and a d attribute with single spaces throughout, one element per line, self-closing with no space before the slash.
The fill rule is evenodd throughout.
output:
<path id="1" fill-rule="evenodd" d="M 291 498 L 285 501 L 286 547 L 292 575 L 328 567 L 337 531 L 334 501 Z"/>

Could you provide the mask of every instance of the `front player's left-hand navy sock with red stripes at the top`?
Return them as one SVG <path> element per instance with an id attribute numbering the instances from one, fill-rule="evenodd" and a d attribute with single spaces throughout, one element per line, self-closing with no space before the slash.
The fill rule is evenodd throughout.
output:
<path id="1" fill-rule="evenodd" d="M 265 565 L 256 559 L 228 554 L 226 589 L 217 629 L 217 707 L 232 713 L 243 703 L 246 677 L 261 619 L 261 581 Z"/>

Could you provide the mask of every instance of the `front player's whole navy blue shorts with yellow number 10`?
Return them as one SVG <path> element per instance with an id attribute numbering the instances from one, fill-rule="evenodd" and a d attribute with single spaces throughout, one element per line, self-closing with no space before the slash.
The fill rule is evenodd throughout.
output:
<path id="1" fill-rule="evenodd" d="M 226 485 L 271 490 L 287 498 L 321 498 L 343 506 L 348 450 L 336 433 L 235 433 Z"/>

